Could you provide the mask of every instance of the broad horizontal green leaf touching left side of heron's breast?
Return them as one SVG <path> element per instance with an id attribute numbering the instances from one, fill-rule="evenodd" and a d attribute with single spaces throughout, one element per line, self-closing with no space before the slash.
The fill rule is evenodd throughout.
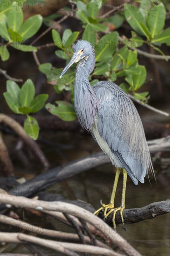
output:
<path id="1" fill-rule="evenodd" d="M 54 105 L 48 103 L 46 104 L 46 109 L 52 115 L 59 116 L 59 118 L 63 121 L 74 121 L 77 118 L 73 105 L 72 107 L 66 105 L 55 107 Z"/>

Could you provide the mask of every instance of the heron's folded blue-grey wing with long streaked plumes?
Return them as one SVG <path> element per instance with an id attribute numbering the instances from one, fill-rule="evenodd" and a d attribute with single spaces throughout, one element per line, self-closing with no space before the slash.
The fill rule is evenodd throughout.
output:
<path id="1" fill-rule="evenodd" d="M 147 170 L 153 169 L 140 116 L 133 102 L 116 84 L 109 81 L 93 86 L 98 107 L 98 131 L 126 169 L 133 182 L 144 183 Z"/>

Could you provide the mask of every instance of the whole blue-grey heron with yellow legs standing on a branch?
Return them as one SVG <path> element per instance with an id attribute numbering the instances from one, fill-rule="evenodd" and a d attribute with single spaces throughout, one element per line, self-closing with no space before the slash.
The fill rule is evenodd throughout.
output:
<path id="1" fill-rule="evenodd" d="M 91 86 L 89 74 L 95 67 L 93 46 L 85 40 L 78 40 L 73 46 L 74 54 L 64 68 L 60 78 L 73 63 L 78 62 L 75 75 L 74 106 L 81 125 L 91 132 L 100 148 L 110 157 L 116 167 L 116 175 L 109 204 L 102 204 L 94 214 L 104 209 L 105 218 L 120 211 L 122 222 L 125 207 L 127 174 L 135 185 L 144 183 L 148 171 L 153 172 L 149 149 L 144 135 L 142 121 L 129 96 L 110 81 L 99 81 Z M 123 169 L 123 189 L 121 205 L 114 207 L 115 193 L 120 171 Z M 109 211 L 108 211 L 109 210 Z"/>

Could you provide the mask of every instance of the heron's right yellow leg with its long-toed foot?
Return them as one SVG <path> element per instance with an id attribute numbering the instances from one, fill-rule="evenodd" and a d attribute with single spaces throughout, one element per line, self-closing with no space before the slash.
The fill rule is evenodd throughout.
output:
<path id="1" fill-rule="evenodd" d="M 122 199 L 121 199 L 121 205 L 118 208 L 111 209 L 107 214 L 106 217 L 113 212 L 113 227 L 116 229 L 116 223 L 115 223 L 115 216 L 117 211 L 120 211 L 120 216 L 122 219 L 122 223 L 124 224 L 124 218 L 123 218 L 123 210 L 125 208 L 125 194 L 126 194 L 126 182 L 127 182 L 127 172 L 123 168 L 123 189 L 122 189 Z"/>

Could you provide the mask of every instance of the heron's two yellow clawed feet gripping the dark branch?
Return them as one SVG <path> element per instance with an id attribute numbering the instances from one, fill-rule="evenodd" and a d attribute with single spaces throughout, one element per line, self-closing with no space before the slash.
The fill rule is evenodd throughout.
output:
<path id="1" fill-rule="evenodd" d="M 113 213 L 113 218 L 112 218 L 112 221 L 113 221 L 113 227 L 114 229 L 116 230 L 116 222 L 115 222 L 115 217 L 116 217 L 116 213 L 118 211 L 120 211 L 120 216 L 121 216 L 121 220 L 122 220 L 122 223 L 124 224 L 124 217 L 123 217 L 123 210 L 124 210 L 124 207 L 120 206 L 118 208 L 114 208 L 114 204 L 102 204 L 102 207 L 100 207 L 97 211 L 94 212 L 95 215 L 98 216 L 98 213 L 104 209 L 104 216 L 105 218 L 107 218 L 111 213 Z M 110 209 L 109 212 L 107 212 L 107 210 Z"/>

